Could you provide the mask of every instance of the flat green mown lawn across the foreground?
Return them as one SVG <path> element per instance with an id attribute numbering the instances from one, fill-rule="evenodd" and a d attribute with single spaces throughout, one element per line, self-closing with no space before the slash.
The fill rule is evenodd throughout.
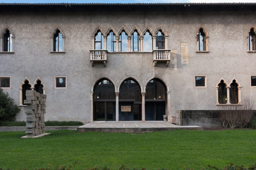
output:
<path id="1" fill-rule="evenodd" d="M 144 134 L 60 130 L 41 138 L 21 139 L 24 132 L 0 132 L 0 169 L 99 166 L 184 169 L 224 167 L 231 162 L 250 166 L 256 161 L 256 130 L 175 130 Z"/>

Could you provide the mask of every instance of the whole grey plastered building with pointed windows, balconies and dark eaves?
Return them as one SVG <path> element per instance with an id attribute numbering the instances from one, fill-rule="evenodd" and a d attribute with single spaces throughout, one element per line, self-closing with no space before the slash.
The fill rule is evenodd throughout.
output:
<path id="1" fill-rule="evenodd" d="M 45 120 L 219 126 L 220 105 L 256 95 L 255 7 L 0 4 L 0 86 L 16 120 L 33 89 Z"/>

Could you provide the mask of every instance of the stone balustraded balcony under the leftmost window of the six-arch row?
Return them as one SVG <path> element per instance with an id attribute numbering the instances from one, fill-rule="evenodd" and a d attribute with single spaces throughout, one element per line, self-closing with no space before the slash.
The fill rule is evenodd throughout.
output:
<path id="1" fill-rule="evenodd" d="M 94 63 L 103 63 L 106 67 L 107 50 L 90 50 L 90 61 L 92 66 L 94 66 Z"/>

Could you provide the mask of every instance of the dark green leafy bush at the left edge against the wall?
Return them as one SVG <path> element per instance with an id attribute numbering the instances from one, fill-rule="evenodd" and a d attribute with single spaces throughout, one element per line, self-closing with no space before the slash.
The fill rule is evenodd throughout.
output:
<path id="1" fill-rule="evenodd" d="M 12 121 L 20 111 L 19 107 L 14 104 L 14 100 L 4 93 L 0 88 L 0 122 L 4 120 Z"/>

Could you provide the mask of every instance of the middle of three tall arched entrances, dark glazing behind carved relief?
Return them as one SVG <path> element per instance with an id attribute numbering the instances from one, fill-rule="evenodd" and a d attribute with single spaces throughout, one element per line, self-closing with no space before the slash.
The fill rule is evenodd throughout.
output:
<path id="1" fill-rule="evenodd" d="M 141 120 L 141 101 L 139 83 L 132 78 L 124 80 L 119 88 L 119 121 Z M 122 111 L 122 106 L 130 106 L 131 110 Z"/>

